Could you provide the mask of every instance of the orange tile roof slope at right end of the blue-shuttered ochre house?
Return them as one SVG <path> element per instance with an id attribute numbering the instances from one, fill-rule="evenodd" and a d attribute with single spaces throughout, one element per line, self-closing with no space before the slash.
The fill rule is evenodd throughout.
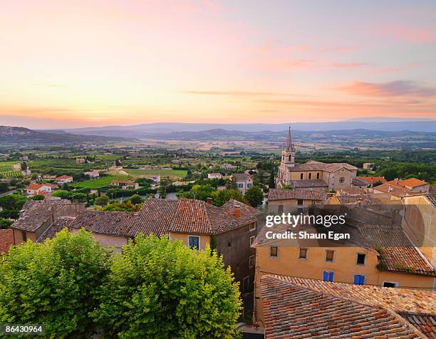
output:
<path id="1" fill-rule="evenodd" d="M 379 260 L 385 270 L 436 276 L 435 269 L 405 236 L 400 226 L 365 225 L 360 231 L 375 249 L 380 247 Z"/>

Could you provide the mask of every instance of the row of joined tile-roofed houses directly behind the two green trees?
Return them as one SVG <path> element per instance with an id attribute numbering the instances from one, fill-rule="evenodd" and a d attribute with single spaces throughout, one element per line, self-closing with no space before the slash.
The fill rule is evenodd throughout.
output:
<path id="1" fill-rule="evenodd" d="M 138 234 L 169 236 L 186 246 L 211 246 L 232 268 L 243 292 L 254 288 L 254 254 L 251 248 L 259 230 L 260 213 L 230 200 L 222 207 L 194 199 L 147 199 L 140 212 L 88 211 L 68 200 L 26 202 L 13 225 L 15 244 L 43 241 L 68 228 L 90 231 L 102 245 L 120 251 Z"/>

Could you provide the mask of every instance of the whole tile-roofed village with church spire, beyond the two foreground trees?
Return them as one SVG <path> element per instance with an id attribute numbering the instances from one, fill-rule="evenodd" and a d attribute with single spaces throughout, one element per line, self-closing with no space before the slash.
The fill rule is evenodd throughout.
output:
<path id="1" fill-rule="evenodd" d="M 19 165 L 3 165 L 20 174 L 4 181 L 14 191 L 4 197 L 20 205 L 2 208 L 10 221 L 0 230 L 5 260 L 10 246 L 43 243 L 63 229 L 85 229 L 115 252 L 140 234 L 153 234 L 222 256 L 239 282 L 242 333 L 435 338 L 436 195 L 429 182 L 375 175 L 370 162 L 361 168 L 299 162 L 291 128 L 276 165 L 261 158 L 254 167 L 247 160 L 197 162 L 197 170 L 185 170 L 190 160 L 179 152 L 170 160 L 175 167 L 134 168 L 155 151 L 106 153 L 63 157 L 69 168 L 53 167 L 55 157 L 43 168 L 36 152 L 20 155 Z M 104 159 L 115 161 L 99 168 Z M 341 227 L 351 239 L 267 236 L 266 217 L 289 213 L 346 215 Z M 274 227 L 288 230 L 283 223 Z M 296 230 L 319 232 L 310 223 Z M 332 313 L 334 321 L 328 320 Z"/>

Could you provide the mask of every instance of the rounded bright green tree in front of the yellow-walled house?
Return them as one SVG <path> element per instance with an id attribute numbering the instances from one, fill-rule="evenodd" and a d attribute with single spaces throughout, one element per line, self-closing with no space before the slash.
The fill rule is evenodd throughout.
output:
<path id="1" fill-rule="evenodd" d="M 123 247 L 91 315 L 108 338 L 235 338 L 240 309 L 216 252 L 150 235 Z"/>

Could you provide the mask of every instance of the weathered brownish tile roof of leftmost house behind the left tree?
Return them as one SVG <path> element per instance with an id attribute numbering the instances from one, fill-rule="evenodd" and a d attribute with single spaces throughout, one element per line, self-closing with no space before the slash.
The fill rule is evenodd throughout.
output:
<path id="1" fill-rule="evenodd" d="M 20 212 L 20 218 L 12 224 L 12 228 L 34 232 L 51 218 L 53 212 L 58 212 L 68 204 L 71 202 L 67 199 L 28 200 Z"/>

